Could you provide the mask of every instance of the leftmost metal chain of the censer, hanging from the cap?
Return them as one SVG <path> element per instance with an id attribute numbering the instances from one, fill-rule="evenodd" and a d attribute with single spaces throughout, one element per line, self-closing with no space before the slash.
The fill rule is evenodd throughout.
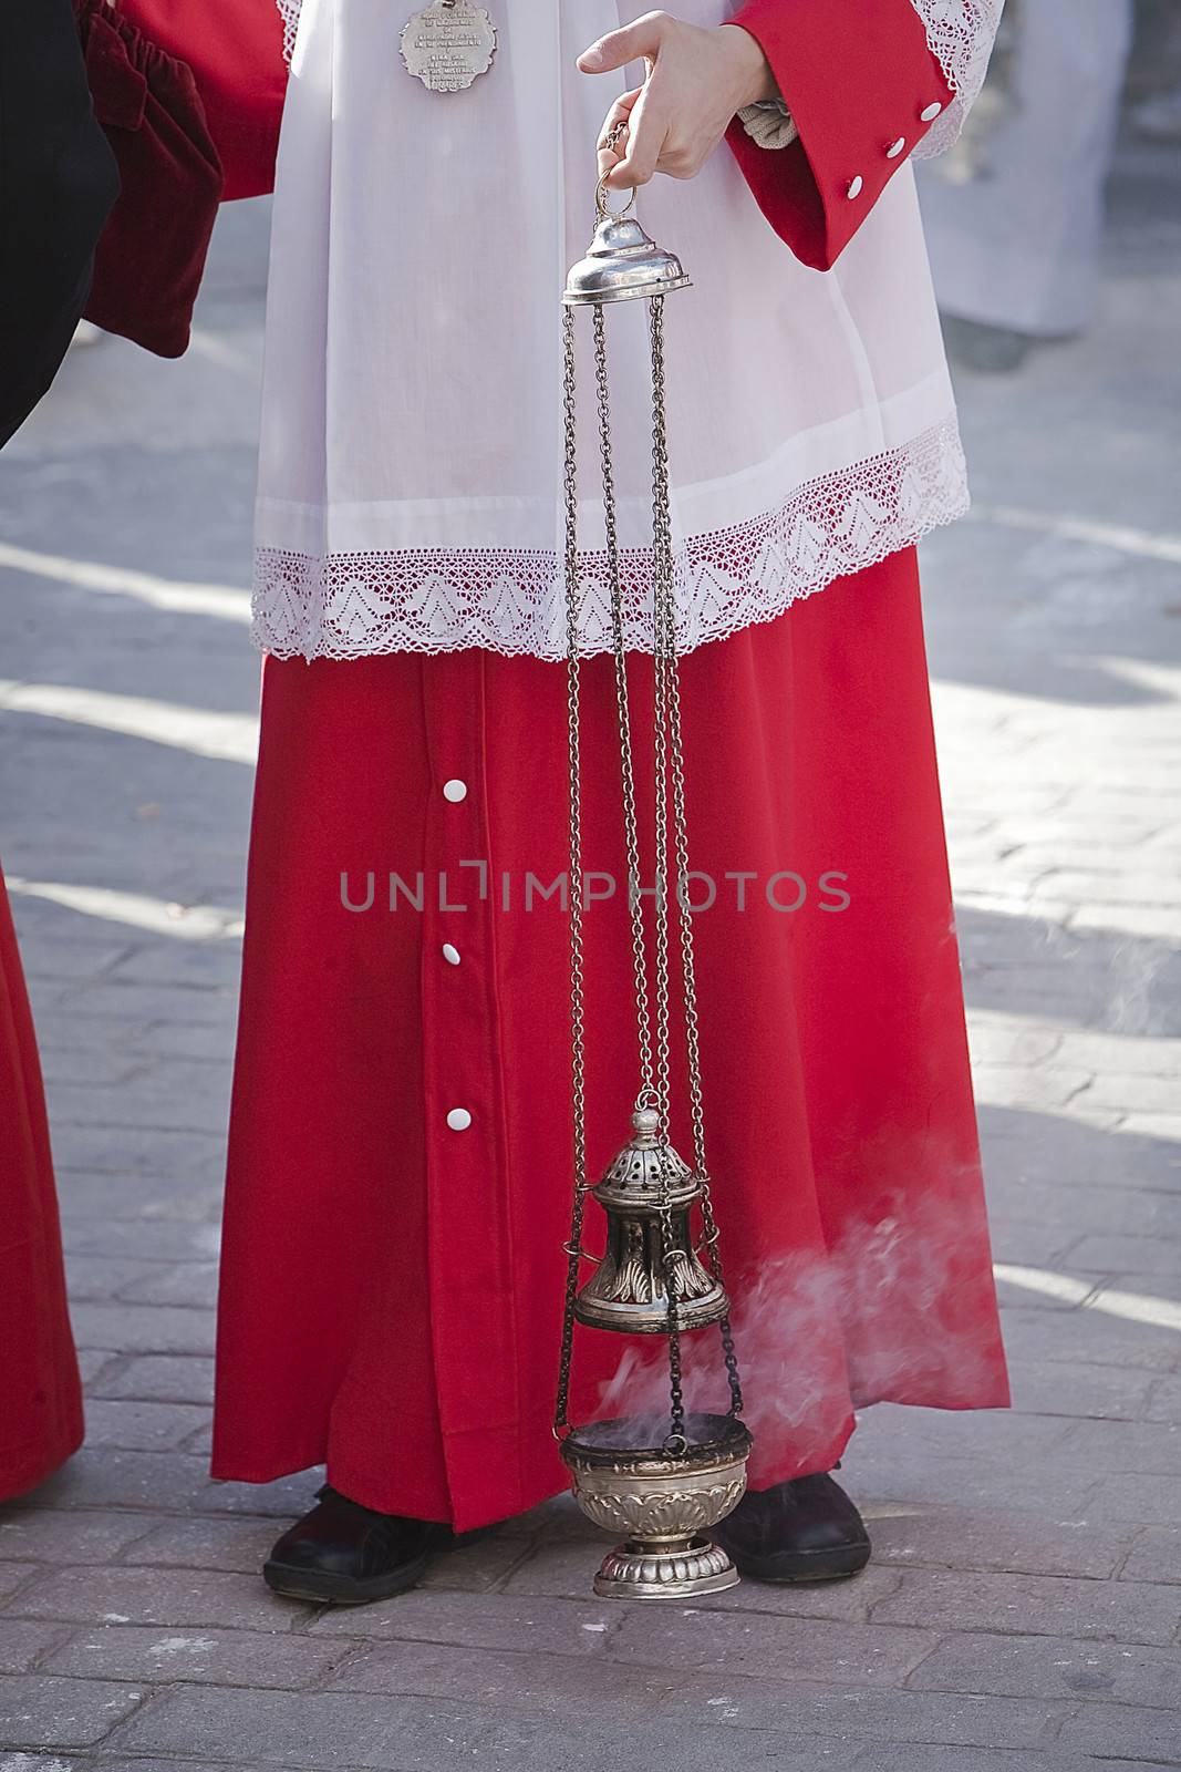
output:
<path id="1" fill-rule="evenodd" d="M 579 617 L 579 487 L 577 487 L 577 374 L 574 353 L 574 312 L 561 315 L 563 346 L 563 420 L 565 420 L 565 590 L 567 590 L 567 737 L 570 755 L 570 1093 L 574 1118 L 574 1207 L 567 1244 L 567 1295 L 561 1315 L 561 1356 L 558 1364 L 558 1403 L 554 1435 L 568 1428 L 570 1364 L 574 1359 L 574 1301 L 583 1260 L 583 1217 L 586 1209 L 586 998 L 583 955 L 583 804 L 581 804 L 581 652 Z"/>

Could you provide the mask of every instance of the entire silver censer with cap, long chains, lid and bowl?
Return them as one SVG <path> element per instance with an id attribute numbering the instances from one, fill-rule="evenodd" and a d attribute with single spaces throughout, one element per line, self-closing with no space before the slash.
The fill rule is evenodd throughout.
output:
<path id="1" fill-rule="evenodd" d="M 701 1065 L 694 980 L 692 923 L 680 891 L 689 877 L 682 703 L 673 597 L 673 532 L 664 415 L 664 298 L 687 289 L 680 260 L 660 250 L 629 214 L 611 211 L 606 188 L 597 191 L 597 227 L 590 250 L 568 275 L 563 294 L 565 353 L 565 588 L 570 750 L 570 1028 L 574 1102 L 574 1210 L 567 1253 L 567 1297 L 561 1331 L 554 1432 L 583 1512 L 623 1542 L 607 1554 L 595 1593 L 625 1598 L 685 1598 L 731 1588 L 738 1574 L 708 1538 L 742 1499 L 751 1434 L 742 1423 L 742 1384 L 729 1333 L 729 1301 L 719 1256 L 710 1180 L 705 1162 Z M 653 804 L 655 911 L 648 943 L 639 886 L 636 753 L 632 746 L 623 599 L 611 450 L 611 385 L 604 310 L 616 301 L 646 299 L 652 349 L 652 654 L 653 654 Z M 591 310 L 598 459 L 607 537 L 611 631 L 623 783 L 636 982 L 637 1077 L 632 1138 L 602 1180 L 586 1177 L 586 1028 L 583 968 L 583 820 L 581 820 L 581 636 L 583 590 L 577 537 L 577 349 L 575 310 Z M 671 836 L 671 842 L 669 842 Z M 671 849 L 671 852 L 669 852 Z M 676 946 L 673 948 L 673 923 Z M 653 991 L 648 985 L 652 946 Z M 671 971 L 676 966 L 683 999 L 683 1045 L 692 1122 L 692 1164 L 673 1148 L 669 1132 L 673 1026 Z M 650 998 L 655 998 L 655 1005 Z M 586 1198 L 606 1212 L 602 1256 L 583 1244 Z M 701 1240 L 694 1242 L 694 1216 Z M 583 1263 L 593 1276 L 581 1285 Z M 669 1409 L 664 1432 L 643 1418 L 570 1426 L 568 1396 L 575 1322 L 625 1334 L 657 1334 L 668 1341 Z M 729 1382 L 726 1414 L 687 1412 L 682 1391 L 682 1334 L 719 1327 Z"/>

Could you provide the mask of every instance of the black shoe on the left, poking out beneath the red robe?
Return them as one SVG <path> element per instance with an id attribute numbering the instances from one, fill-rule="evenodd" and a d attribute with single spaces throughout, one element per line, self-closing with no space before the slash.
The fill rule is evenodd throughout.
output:
<path id="1" fill-rule="evenodd" d="M 460 1542 L 450 1526 L 377 1513 L 324 1485 L 271 1550 L 262 1579 L 292 1600 L 367 1605 L 405 1593 L 439 1550 Z"/>

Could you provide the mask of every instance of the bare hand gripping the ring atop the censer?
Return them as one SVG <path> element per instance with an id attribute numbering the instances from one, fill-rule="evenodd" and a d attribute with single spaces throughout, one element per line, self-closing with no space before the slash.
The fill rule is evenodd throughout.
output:
<path id="1" fill-rule="evenodd" d="M 641 58 L 643 87 L 611 106 L 598 136 L 598 175 L 611 190 L 646 184 L 653 172 L 696 177 L 735 112 L 777 90 L 767 57 L 740 25 L 701 30 L 668 12 L 607 32 L 579 55 L 579 67 L 606 74 Z"/>

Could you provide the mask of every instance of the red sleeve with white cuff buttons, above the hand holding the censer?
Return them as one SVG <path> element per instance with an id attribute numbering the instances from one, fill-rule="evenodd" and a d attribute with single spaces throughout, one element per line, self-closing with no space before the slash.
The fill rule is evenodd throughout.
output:
<path id="1" fill-rule="evenodd" d="M 912 0 L 747 0 L 749 30 L 800 131 L 765 149 L 740 122 L 729 145 L 797 259 L 836 264 L 953 90 Z"/>

